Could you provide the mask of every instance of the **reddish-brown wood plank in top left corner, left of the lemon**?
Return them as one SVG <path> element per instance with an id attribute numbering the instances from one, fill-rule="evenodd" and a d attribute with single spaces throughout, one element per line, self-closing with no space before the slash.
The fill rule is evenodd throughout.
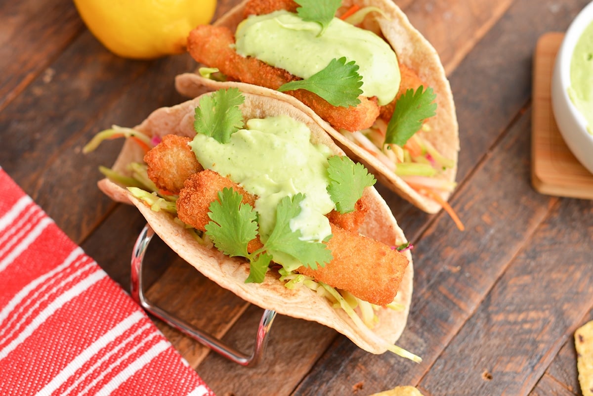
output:
<path id="1" fill-rule="evenodd" d="M 84 30 L 71 1 L 4 1 L 0 4 L 0 111 Z"/>

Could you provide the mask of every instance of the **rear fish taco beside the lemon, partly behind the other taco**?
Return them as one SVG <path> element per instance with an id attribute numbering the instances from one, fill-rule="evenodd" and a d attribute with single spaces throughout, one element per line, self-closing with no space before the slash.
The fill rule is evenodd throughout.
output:
<path id="1" fill-rule="evenodd" d="M 392 1 L 247 0 L 196 27 L 188 50 L 206 67 L 177 76 L 181 94 L 256 85 L 321 117 L 401 197 L 458 222 L 447 203 L 459 150 L 451 87 L 436 50 Z"/>

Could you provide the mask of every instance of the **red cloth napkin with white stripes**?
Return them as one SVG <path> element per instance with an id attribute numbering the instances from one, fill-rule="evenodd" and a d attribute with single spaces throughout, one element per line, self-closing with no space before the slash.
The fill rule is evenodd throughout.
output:
<path id="1" fill-rule="evenodd" d="M 0 394 L 213 392 L 0 168 Z"/>

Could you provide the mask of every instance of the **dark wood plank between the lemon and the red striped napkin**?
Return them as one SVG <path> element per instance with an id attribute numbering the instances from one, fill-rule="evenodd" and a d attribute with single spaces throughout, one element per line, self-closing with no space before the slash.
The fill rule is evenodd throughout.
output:
<path id="1" fill-rule="evenodd" d="M 78 243 L 108 205 L 97 194 L 97 164 L 81 166 L 90 164 L 80 154 L 90 135 L 81 130 L 148 65 L 116 58 L 82 34 L 52 64 L 52 79 L 37 78 L 0 113 L 2 167 Z"/>

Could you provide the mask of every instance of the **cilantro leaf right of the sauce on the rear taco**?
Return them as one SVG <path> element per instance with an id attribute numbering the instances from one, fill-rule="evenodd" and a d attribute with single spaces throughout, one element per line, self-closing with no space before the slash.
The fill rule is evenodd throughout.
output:
<path id="1" fill-rule="evenodd" d="M 420 85 L 416 92 L 409 89 L 396 101 L 396 110 L 387 124 L 385 144 L 403 146 L 422 127 L 425 119 L 436 114 L 436 94 L 430 87 L 425 91 L 422 88 Z"/>

